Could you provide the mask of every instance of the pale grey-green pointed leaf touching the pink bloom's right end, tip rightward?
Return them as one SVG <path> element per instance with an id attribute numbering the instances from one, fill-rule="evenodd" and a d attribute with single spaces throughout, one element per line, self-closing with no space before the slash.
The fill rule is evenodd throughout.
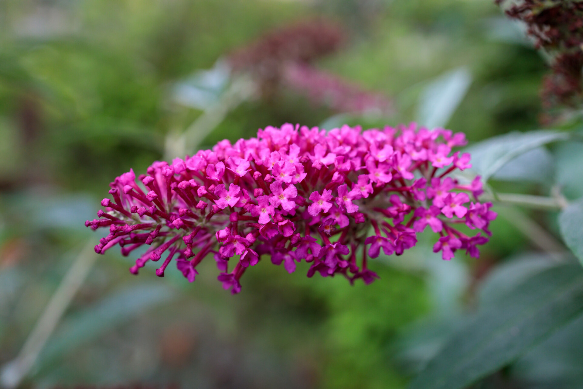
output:
<path id="1" fill-rule="evenodd" d="M 539 129 L 529 132 L 511 132 L 476 143 L 464 151 L 472 154 L 472 171 L 486 182 L 505 164 L 529 150 L 550 142 L 566 141 L 568 132 Z"/>

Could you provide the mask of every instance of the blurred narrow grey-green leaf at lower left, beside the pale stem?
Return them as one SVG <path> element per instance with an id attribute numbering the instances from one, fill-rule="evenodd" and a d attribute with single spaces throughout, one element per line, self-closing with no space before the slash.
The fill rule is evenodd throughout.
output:
<path id="1" fill-rule="evenodd" d="M 167 302 L 174 296 L 167 285 L 139 283 L 122 289 L 78 314 L 67 318 L 48 341 L 38 358 L 42 367 L 73 348 L 89 342 L 104 332 L 143 311 Z"/>

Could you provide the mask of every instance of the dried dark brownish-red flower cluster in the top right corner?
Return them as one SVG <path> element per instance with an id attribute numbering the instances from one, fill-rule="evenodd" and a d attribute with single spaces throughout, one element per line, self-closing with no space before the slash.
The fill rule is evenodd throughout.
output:
<path id="1" fill-rule="evenodd" d="M 496 0 L 498 4 L 504 0 Z M 522 0 L 506 14 L 522 20 L 537 48 L 554 56 L 552 73 L 543 80 L 546 108 L 575 106 L 583 97 L 583 2 L 570 0 Z"/>

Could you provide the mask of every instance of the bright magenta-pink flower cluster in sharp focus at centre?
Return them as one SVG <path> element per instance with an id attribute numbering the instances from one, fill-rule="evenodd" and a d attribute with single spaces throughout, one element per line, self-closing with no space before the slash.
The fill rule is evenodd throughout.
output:
<path id="1" fill-rule="evenodd" d="M 444 260 L 460 249 L 478 257 L 476 246 L 488 239 L 468 233 L 490 235 L 496 213 L 477 201 L 479 177 L 465 185 L 448 177 L 470 167 L 468 153 L 452 153 L 462 145 L 461 133 L 415 124 L 364 132 L 266 127 L 257 138 L 154 162 L 137 183 L 134 171 L 122 174 L 111 183 L 113 200 L 101 201 L 100 219 L 86 226 L 110 229 L 96 253 L 119 244 L 128 255 L 146 245 L 134 274 L 164 255 L 157 275 L 175 258 L 192 282 L 196 266 L 213 254 L 219 281 L 238 293 L 243 273 L 268 256 L 290 273 L 304 260 L 308 277 L 339 273 L 370 283 L 378 276 L 367 258 L 381 249 L 402 254 L 428 225 Z"/>

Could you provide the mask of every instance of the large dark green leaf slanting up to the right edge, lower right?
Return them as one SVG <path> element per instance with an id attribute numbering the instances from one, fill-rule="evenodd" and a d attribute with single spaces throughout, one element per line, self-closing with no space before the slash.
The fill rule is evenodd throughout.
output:
<path id="1" fill-rule="evenodd" d="M 513 362 L 583 311 L 583 269 L 536 274 L 477 313 L 427 364 L 410 389 L 462 389 Z"/>

